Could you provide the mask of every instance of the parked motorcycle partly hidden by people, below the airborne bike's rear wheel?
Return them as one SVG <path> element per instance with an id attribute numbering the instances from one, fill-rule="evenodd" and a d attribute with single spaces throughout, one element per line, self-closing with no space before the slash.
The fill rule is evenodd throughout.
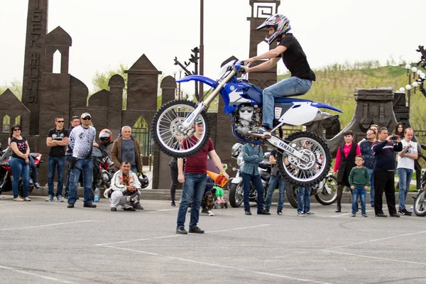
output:
<path id="1" fill-rule="evenodd" d="M 285 190 L 287 200 L 291 206 L 297 208 L 297 190 L 299 186 L 288 183 Z M 331 205 L 337 199 L 337 179 L 329 173 L 322 182 L 312 186 L 311 196 L 314 195 L 318 203 L 322 205 Z"/>

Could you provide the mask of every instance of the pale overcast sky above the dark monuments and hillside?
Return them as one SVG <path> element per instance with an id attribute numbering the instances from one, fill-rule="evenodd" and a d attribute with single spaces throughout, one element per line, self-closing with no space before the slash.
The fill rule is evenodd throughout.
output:
<path id="1" fill-rule="evenodd" d="M 0 84 L 22 80 L 27 11 L 28 0 L 0 0 Z M 283 0 L 278 7 L 313 69 L 420 60 L 424 11 L 421 1 L 401 0 Z M 250 15 L 249 0 L 204 0 L 204 75 L 215 78 L 231 55 L 249 56 Z M 187 60 L 200 43 L 200 0 L 49 0 L 48 16 L 48 32 L 61 26 L 71 35 L 70 74 L 90 90 L 97 71 L 130 67 L 144 53 L 173 75 L 173 58 Z"/>

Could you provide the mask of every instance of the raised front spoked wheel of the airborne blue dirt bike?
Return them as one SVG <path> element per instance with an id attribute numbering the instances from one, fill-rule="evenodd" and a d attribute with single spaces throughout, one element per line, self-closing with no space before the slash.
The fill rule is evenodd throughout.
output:
<path id="1" fill-rule="evenodd" d="M 182 123 L 187 119 L 192 111 L 195 110 L 197 104 L 194 102 L 177 99 L 164 104 L 155 113 L 151 132 L 155 143 L 165 154 L 175 158 L 185 158 L 200 152 L 209 139 L 209 121 L 205 111 L 197 116 L 202 120 L 202 130 L 195 126 L 185 129 Z M 195 132 L 200 131 L 195 137 Z M 180 147 L 178 147 L 179 142 Z"/>

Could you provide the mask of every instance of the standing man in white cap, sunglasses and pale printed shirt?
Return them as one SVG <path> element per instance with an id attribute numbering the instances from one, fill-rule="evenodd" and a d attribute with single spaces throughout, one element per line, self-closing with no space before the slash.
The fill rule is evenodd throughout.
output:
<path id="1" fill-rule="evenodd" d="M 84 112 L 80 117 L 82 124 L 72 129 L 68 146 L 72 149 L 72 157 L 69 160 L 70 167 L 70 192 L 68 193 L 68 208 L 74 208 L 77 200 L 77 186 L 80 173 L 84 182 L 84 207 L 96 207 L 91 197 L 93 182 L 92 147 L 98 147 L 94 141 L 96 129 L 90 126 L 92 116 Z"/>

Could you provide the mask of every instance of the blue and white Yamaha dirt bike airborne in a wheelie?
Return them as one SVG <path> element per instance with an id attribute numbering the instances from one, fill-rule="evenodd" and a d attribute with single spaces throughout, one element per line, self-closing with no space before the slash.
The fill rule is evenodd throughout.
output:
<path id="1" fill-rule="evenodd" d="M 222 67 L 219 80 L 200 75 L 183 77 L 178 82 L 198 81 L 212 87 L 198 104 L 187 100 L 174 100 L 163 104 L 155 113 L 151 131 L 160 150 L 175 158 L 185 158 L 201 151 L 209 138 L 209 121 L 206 110 L 218 94 L 224 99 L 224 112 L 231 115 L 234 136 L 244 143 L 261 144 L 278 151 L 277 162 L 283 177 L 295 185 L 310 186 L 324 180 L 332 163 L 327 143 L 315 133 L 300 131 L 284 140 L 272 135 L 271 138 L 254 138 L 250 132 L 261 126 L 262 90 L 249 83 L 244 76 L 248 65 L 233 60 Z M 275 130 L 284 125 L 301 126 L 310 121 L 325 119 L 330 114 L 319 108 L 340 111 L 327 104 L 307 99 L 280 97 L 275 99 Z M 204 128 L 195 138 L 196 119 L 202 119 Z M 180 148 L 173 144 L 179 141 Z"/>

